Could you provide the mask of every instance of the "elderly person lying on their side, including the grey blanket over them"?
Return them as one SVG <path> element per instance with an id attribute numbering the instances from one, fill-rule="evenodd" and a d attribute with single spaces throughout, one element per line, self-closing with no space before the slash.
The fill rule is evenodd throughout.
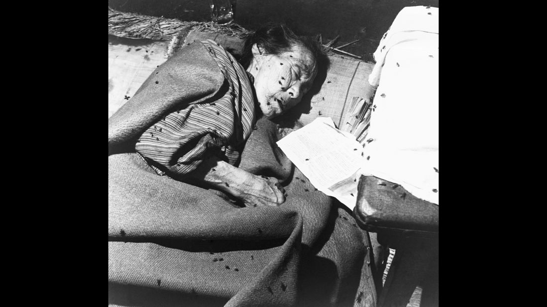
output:
<path id="1" fill-rule="evenodd" d="M 194 42 L 110 117 L 109 304 L 375 304 L 368 235 L 275 145 L 322 58 L 282 25 L 241 64 Z"/>

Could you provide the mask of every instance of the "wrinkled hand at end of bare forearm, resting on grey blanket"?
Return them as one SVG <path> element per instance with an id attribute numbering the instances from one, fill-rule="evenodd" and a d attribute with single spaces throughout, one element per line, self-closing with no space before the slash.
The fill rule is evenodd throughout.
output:
<path id="1" fill-rule="evenodd" d="M 252 175 L 240 191 L 238 198 L 246 206 L 279 206 L 285 202 L 285 190 L 274 177 Z"/>

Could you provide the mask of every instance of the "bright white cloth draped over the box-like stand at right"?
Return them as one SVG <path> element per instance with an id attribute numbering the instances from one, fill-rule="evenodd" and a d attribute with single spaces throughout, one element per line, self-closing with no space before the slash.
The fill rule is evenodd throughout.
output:
<path id="1" fill-rule="evenodd" d="M 430 13 L 430 14 L 428 14 Z M 381 40 L 369 76 L 376 90 L 366 175 L 439 204 L 438 8 L 407 7 Z"/>

